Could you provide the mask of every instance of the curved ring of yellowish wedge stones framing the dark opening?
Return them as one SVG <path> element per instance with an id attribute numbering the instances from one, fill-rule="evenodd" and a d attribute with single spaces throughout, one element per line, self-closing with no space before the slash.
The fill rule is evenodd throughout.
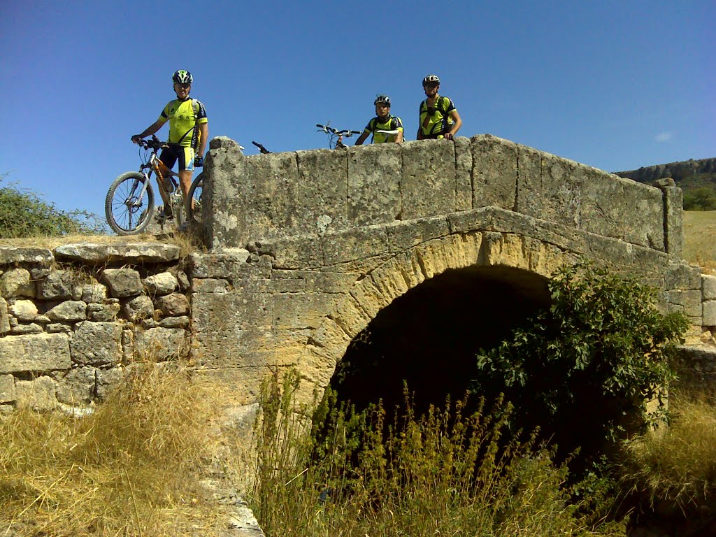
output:
<path id="1" fill-rule="evenodd" d="M 301 374 L 323 390 L 352 339 L 379 311 L 411 289 L 448 271 L 512 270 L 548 279 L 576 254 L 518 233 L 471 231 L 420 243 L 384 261 L 356 281 L 321 326 L 309 337 L 299 360 Z"/>

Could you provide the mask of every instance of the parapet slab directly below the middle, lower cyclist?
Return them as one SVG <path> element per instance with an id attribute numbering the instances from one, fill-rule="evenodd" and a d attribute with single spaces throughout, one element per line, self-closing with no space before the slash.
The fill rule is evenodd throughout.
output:
<path id="1" fill-rule="evenodd" d="M 348 225 L 390 223 L 400 216 L 400 145 L 376 144 L 348 151 Z"/>

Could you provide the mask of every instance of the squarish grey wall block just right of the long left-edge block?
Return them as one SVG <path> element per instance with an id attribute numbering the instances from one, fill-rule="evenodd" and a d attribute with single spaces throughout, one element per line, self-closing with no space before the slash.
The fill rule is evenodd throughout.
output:
<path id="1" fill-rule="evenodd" d="M 122 361 L 122 326 L 118 323 L 83 321 L 69 342 L 72 362 L 94 367 Z"/>

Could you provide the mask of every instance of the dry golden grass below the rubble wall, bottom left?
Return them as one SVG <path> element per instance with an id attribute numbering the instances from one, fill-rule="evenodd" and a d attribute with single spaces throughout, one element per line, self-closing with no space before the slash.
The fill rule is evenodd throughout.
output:
<path id="1" fill-rule="evenodd" d="M 183 367 L 140 364 L 88 417 L 16 410 L 0 422 L 0 535 L 216 534 L 199 480 L 219 397 Z"/>

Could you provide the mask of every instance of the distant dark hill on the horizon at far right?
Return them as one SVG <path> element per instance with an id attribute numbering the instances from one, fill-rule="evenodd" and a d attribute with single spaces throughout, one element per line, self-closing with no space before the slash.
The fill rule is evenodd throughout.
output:
<path id="1" fill-rule="evenodd" d="M 685 210 L 716 210 L 716 158 L 691 159 L 680 163 L 657 164 L 639 170 L 614 173 L 619 177 L 647 184 L 670 177 L 684 191 Z"/>

